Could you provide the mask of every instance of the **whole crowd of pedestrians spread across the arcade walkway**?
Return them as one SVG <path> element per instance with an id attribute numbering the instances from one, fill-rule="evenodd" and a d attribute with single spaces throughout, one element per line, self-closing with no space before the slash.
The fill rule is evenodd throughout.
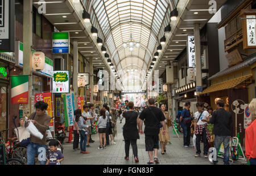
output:
<path id="1" fill-rule="evenodd" d="M 64 160 L 63 154 L 57 150 L 58 141 L 53 139 L 49 143 L 50 152 L 46 156 L 46 130 L 49 126 L 51 117 L 48 116 L 46 109 L 48 104 L 43 101 L 36 102 L 36 112 L 28 117 L 29 122 L 33 123 L 36 128 L 43 134 L 43 139 L 38 139 L 31 135 L 31 139 L 27 145 L 27 164 L 35 163 L 35 153 L 40 156 L 40 164 L 60 164 Z M 218 149 L 223 143 L 224 145 L 224 164 L 229 164 L 230 151 L 229 143 L 233 135 L 232 114 L 224 109 L 225 102 L 218 100 L 216 102 L 217 109 L 213 110 L 208 107 L 204 109 L 204 103 L 197 102 L 196 113 L 190 111 L 191 103 L 185 102 L 185 108 L 181 111 L 179 118 L 180 125 L 183 128 L 183 146 L 184 148 L 193 147 L 191 144 L 191 127 L 193 126 L 193 134 L 195 136 L 195 157 L 200 157 L 203 152 L 204 157 L 208 158 L 208 149 L 210 135 L 214 135 L 214 148 L 218 154 Z M 166 106 L 160 104 L 159 108 L 155 105 L 155 99 L 148 100 L 148 106 L 135 108 L 133 102 L 125 101 L 125 106 L 121 109 L 113 108 L 110 111 L 108 105 L 104 104 L 96 113 L 93 104 L 84 105 L 83 112 L 81 109 L 76 109 L 73 119 L 73 151 L 80 150 L 80 153 L 89 154 L 87 150 L 90 143 L 95 141 L 92 139 L 92 131 L 97 131 L 100 139 L 98 149 L 105 149 L 107 145 L 114 145 L 117 137 L 117 119 L 120 117 L 120 122 L 125 119 L 123 125 L 123 141 L 125 143 L 125 160 L 129 160 L 130 146 L 133 149 L 133 158 L 135 162 L 139 162 L 137 140 L 140 135 L 145 135 L 145 150 L 148 152 L 149 161 L 147 164 L 159 164 L 158 149 L 161 148 L 161 154 L 167 152 L 166 145 L 170 142 L 167 121 L 171 120 L 171 116 L 166 111 Z M 250 164 L 256 164 L 256 98 L 250 104 L 251 121 L 247 123 L 248 127 L 245 131 L 245 155 L 250 161 Z M 142 125 L 144 123 L 144 130 Z M 97 125 L 96 125 L 97 124 Z M 20 125 L 24 126 L 23 120 Z M 213 132 L 209 132 L 209 128 L 213 126 Z M 79 148 L 80 139 L 80 148 Z M 203 141 L 203 151 L 201 151 L 200 143 Z M 160 144 L 160 145 L 159 145 Z M 42 149 L 44 148 L 44 149 Z M 216 156 L 217 158 L 217 156 Z M 217 164 L 218 160 L 213 160 L 213 164 Z"/>

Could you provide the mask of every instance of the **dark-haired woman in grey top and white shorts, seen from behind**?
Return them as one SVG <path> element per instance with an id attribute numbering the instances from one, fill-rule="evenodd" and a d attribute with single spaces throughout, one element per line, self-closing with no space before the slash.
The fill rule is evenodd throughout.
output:
<path id="1" fill-rule="evenodd" d="M 100 138 L 100 146 L 98 149 L 104 149 L 106 145 L 106 124 L 108 122 L 108 118 L 106 118 L 105 110 L 101 109 L 100 110 L 100 118 L 98 118 L 98 136 Z M 103 138 L 103 143 L 102 144 L 102 138 Z"/>

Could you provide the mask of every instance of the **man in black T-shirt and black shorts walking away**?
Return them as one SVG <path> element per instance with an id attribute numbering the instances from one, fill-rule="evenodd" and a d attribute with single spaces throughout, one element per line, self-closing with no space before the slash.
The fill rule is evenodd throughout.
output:
<path id="1" fill-rule="evenodd" d="M 143 134 L 142 123 L 144 120 L 144 133 L 145 133 L 145 144 L 146 151 L 148 151 L 148 156 L 150 157 L 150 161 L 147 164 L 156 164 L 159 163 L 158 160 L 158 141 L 159 141 L 159 131 L 160 131 L 160 123 L 163 126 L 163 134 L 166 133 L 166 125 L 164 120 L 164 114 L 162 110 L 155 107 L 155 99 L 150 98 L 148 100 L 148 108 L 144 109 L 139 116 L 139 133 Z M 154 151 L 154 161 L 152 160 L 152 154 Z"/>

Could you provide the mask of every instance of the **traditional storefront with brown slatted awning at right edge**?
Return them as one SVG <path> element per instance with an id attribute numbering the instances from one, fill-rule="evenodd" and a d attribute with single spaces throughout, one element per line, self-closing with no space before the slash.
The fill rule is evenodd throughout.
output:
<path id="1" fill-rule="evenodd" d="M 255 67 L 256 55 L 252 55 L 242 63 L 213 75 L 209 78 L 211 86 L 201 93 L 201 96 L 210 96 L 210 105 L 213 110 L 216 109 L 218 99 L 224 100 L 225 110 L 232 113 L 233 133 L 240 134 L 242 145 L 245 137 L 244 107 L 252 98 L 255 98 Z"/>

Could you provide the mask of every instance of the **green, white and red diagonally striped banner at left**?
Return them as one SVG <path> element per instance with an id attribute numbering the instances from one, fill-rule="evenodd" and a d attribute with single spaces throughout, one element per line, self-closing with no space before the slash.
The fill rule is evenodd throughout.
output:
<path id="1" fill-rule="evenodd" d="M 11 103 L 28 103 L 28 75 L 11 76 Z"/>

